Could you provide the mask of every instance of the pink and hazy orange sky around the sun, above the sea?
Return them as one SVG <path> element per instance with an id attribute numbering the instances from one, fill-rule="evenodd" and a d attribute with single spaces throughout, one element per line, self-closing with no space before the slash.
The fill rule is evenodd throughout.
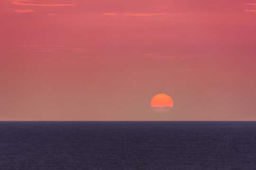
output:
<path id="1" fill-rule="evenodd" d="M 255 30 L 256 0 L 0 0 L 0 120 L 256 120 Z"/>

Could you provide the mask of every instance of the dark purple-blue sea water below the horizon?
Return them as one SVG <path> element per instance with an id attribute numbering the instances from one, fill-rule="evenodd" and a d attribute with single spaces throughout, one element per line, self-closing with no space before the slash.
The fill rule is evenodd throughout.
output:
<path id="1" fill-rule="evenodd" d="M 256 122 L 0 122 L 0 170 L 256 170 Z"/>

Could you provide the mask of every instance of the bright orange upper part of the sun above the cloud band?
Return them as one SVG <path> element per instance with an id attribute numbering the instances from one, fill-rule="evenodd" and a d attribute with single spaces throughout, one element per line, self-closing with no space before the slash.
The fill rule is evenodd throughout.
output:
<path id="1" fill-rule="evenodd" d="M 156 94 L 151 100 L 151 107 L 173 107 L 173 99 L 164 93 Z"/>

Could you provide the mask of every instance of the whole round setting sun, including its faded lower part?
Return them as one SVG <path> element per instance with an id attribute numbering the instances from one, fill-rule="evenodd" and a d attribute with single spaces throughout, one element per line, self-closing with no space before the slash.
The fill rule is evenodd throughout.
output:
<path id="1" fill-rule="evenodd" d="M 173 99 L 164 93 L 156 94 L 151 100 L 151 107 L 157 112 L 169 111 L 173 106 Z"/>

